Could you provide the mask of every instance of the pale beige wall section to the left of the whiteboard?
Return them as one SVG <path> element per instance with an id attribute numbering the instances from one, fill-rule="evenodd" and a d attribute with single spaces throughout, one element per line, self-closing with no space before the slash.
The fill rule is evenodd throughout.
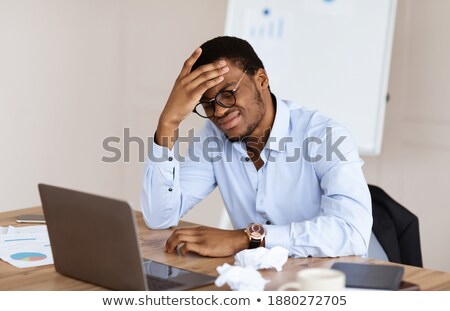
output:
<path id="1" fill-rule="evenodd" d="M 39 205 L 39 182 L 138 208 L 137 144 L 129 163 L 105 163 L 102 142 L 118 137 L 123 152 L 125 128 L 153 135 L 182 62 L 223 33 L 225 9 L 225 0 L 0 0 L 0 211 Z M 217 201 L 216 191 L 189 217 L 207 212 L 202 222 L 215 224 Z"/>

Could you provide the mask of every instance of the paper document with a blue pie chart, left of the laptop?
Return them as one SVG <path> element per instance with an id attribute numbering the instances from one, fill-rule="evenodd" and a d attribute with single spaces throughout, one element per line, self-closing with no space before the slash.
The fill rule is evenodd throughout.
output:
<path id="1" fill-rule="evenodd" d="M 17 268 L 53 264 L 47 226 L 0 227 L 0 258 Z"/>

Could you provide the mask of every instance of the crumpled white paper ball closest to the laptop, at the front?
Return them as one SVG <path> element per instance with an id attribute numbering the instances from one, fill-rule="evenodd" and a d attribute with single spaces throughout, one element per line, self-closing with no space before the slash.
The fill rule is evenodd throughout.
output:
<path id="1" fill-rule="evenodd" d="M 216 286 L 228 284 L 231 290 L 261 291 L 269 282 L 255 269 L 232 266 L 227 263 L 217 267 L 217 272 L 220 275 L 216 279 Z"/>

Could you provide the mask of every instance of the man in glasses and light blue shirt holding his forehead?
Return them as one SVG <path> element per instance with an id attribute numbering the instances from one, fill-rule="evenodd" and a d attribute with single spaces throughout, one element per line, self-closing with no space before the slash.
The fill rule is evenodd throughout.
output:
<path id="1" fill-rule="evenodd" d="M 178 161 L 178 128 L 193 111 L 207 121 Z M 179 228 L 167 252 L 279 245 L 292 257 L 365 255 L 372 214 L 361 165 L 343 127 L 276 98 L 248 42 L 218 37 L 185 61 L 161 113 L 142 211 L 150 228 L 176 226 L 218 186 L 235 230 Z"/>

